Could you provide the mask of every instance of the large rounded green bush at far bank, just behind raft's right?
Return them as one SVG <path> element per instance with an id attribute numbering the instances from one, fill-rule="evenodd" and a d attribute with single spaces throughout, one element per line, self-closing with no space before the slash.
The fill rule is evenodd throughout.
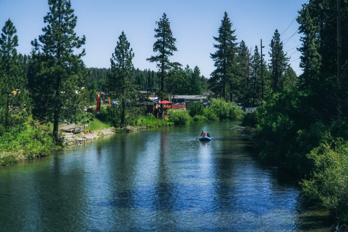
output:
<path id="1" fill-rule="evenodd" d="M 220 120 L 242 120 L 244 112 L 235 103 L 226 103 L 223 99 L 213 99 L 209 108 Z"/>

